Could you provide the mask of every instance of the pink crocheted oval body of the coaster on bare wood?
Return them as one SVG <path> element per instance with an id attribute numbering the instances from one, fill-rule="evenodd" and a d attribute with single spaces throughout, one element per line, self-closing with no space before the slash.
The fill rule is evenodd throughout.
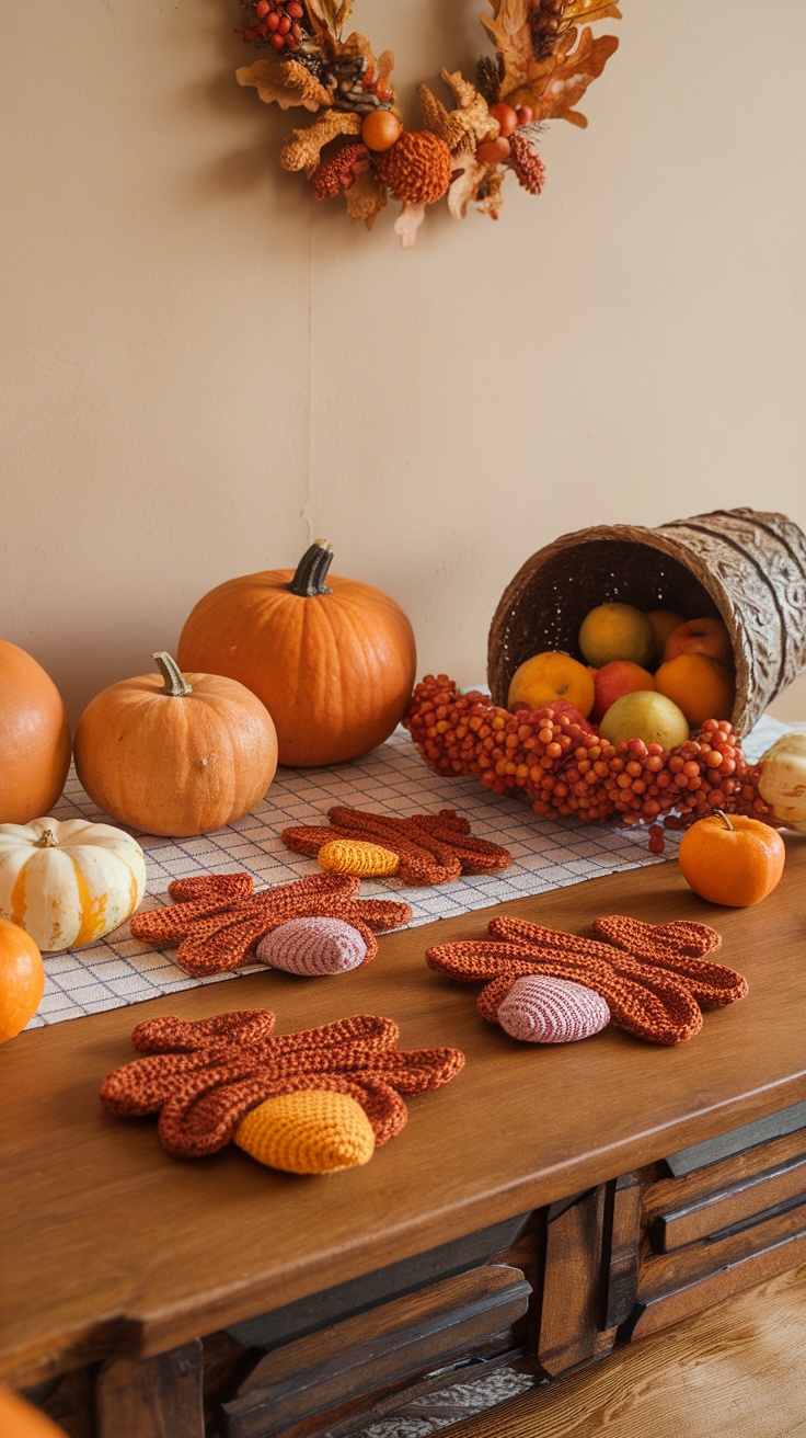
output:
<path id="1" fill-rule="evenodd" d="M 513 984 L 497 1020 L 504 1034 L 527 1044 L 573 1044 L 605 1028 L 611 1011 L 583 984 L 530 974 Z"/>

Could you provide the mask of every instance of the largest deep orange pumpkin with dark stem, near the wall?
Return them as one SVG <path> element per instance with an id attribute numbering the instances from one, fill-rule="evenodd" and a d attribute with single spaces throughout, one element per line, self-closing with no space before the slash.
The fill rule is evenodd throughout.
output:
<path id="1" fill-rule="evenodd" d="M 277 726 L 280 764 L 341 764 L 388 739 L 414 686 L 417 654 L 388 594 L 330 577 L 310 545 L 296 572 L 247 574 L 211 590 L 180 638 L 182 669 L 240 679 Z"/>

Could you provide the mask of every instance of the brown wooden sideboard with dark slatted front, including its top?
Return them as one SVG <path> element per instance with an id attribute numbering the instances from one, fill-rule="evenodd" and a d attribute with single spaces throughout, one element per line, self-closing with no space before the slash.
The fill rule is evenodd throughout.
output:
<path id="1" fill-rule="evenodd" d="M 99 1438 L 198 1438 L 204 1389 L 208 1432 L 302 1438 L 471 1359 L 568 1372 L 793 1268 L 805 877 L 806 838 L 789 835 L 757 909 L 705 905 L 670 863 L 389 935 L 338 979 L 267 971 L 22 1034 L 0 1050 L 0 1378 L 70 1434 L 95 1409 Z M 603 913 L 710 922 L 750 995 L 672 1050 L 613 1028 L 516 1044 L 478 1018 L 476 988 L 422 962 L 501 912 L 578 933 Z M 333 1176 L 233 1148 L 177 1162 L 152 1120 L 102 1109 L 135 1022 L 259 1005 L 280 1032 L 388 1014 L 401 1047 L 453 1044 L 467 1064 Z"/>

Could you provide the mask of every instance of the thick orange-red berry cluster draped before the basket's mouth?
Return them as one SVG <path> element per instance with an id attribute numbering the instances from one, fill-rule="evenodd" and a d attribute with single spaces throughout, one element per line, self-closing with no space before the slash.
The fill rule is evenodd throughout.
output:
<path id="1" fill-rule="evenodd" d="M 473 774 L 493 794 L 524 789 L 536 814 L 649 824 L 654 853 L 664 847 L 661 824 L 685 828 L 717 808 L 774 823 L 759 765 L 747 764 L 727 719 L 707 719 L 675 749 L 612 745 L 562 700 L 511 713 L 477 690 L 460 695 L 447 674 L 428 674 L 404 723 L 437 774 Z"/>

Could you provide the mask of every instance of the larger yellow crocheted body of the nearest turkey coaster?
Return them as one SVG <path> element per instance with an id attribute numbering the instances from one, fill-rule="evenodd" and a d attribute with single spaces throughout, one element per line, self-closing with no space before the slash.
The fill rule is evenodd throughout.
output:
<path id="1" fill-rule="evenodd" d="M 305 1089 L 266 1099 L 238 1123 L 234 1142 L 259 1163 L 284 1173 L 336 1173 L 369 1163 L 375 1135 L 346 1093 Z"/>

